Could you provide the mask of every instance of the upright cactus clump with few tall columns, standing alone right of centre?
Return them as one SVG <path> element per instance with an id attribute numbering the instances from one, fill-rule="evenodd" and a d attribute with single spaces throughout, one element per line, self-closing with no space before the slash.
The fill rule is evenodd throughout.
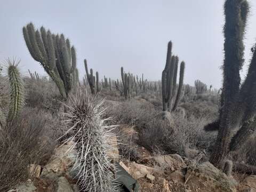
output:
<path id="1" fill-rule="evenodd" d="M 185 62 L 182 61 L 180 64 L 179 86 L 177 90 L 178 63 L 179 63 L 178 56 L 172 55 L 172 42 L 170 41 L 167 46 L 166 64 L 162 73 L 163 111 L 175 110 L 181 98 L 184 71 L 185 71 Z M 173 104 L 172 102 L 173 102 L 173 99 L 175 98 L 175 95 L 176 95 L 176 99 Z"/>

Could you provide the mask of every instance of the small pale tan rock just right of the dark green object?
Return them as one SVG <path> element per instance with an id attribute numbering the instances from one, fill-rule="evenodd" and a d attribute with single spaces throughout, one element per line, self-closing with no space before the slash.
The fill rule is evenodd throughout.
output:
<path id="1" fill-rule="evenodd" d="M 147 174 L 152 174 L 153 172 L 154 168 L 142 164 L 137 164 L 135 162 L 132 162 L 129 166 L 129 173 L 134 179 L 143 178 Z"/>

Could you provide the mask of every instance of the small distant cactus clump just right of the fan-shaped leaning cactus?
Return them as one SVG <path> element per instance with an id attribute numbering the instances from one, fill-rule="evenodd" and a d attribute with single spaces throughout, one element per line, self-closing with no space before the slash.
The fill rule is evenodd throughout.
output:
<path id="1" fill-rule="evenodd" d="M 99 88 L 99 73 L 97 71 L 96 72 L 96 77 L 95 77 L 95 76 L 93 76 L 93 70 L 90 69 L 90 74 L 89 74 L 86 59 L 84 60 L 84 67 L 85 67 L 85 72 L 86 72 L 86 77 L 87 77 L 86 79 L 87 79 L 87 82 L 90 86 L 91 93 L 96 94 L 100 91 L 100 88 Z M 86 84 L 85 80 L 84 80 L 84 84 Z"/>

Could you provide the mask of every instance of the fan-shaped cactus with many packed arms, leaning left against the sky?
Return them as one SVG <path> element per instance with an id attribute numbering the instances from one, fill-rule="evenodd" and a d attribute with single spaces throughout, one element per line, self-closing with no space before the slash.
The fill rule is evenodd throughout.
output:
<path id="1" fill-rule="evenodd" d="M 63 34 L 55 35 L 44 27 L 35 30 L 33 23 L 23 27 L 23 36 L 31 56 L 41 63 L 46 73 L 58 86 L 63 98 L 67 98 L 76 69 L 75 47 Z"/>

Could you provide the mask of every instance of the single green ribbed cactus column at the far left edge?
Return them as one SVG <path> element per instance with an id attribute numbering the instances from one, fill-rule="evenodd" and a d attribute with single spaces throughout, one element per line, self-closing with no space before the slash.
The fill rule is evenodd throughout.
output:
<path id="1" fill-rule="evenodd" d="M 12 121 L 17 117 L 21 107 L 24 105 L 24 85 L 18 69 L 20 60 L 7 59 L 9 77 L 10 106 L 8 120 Z"/>

